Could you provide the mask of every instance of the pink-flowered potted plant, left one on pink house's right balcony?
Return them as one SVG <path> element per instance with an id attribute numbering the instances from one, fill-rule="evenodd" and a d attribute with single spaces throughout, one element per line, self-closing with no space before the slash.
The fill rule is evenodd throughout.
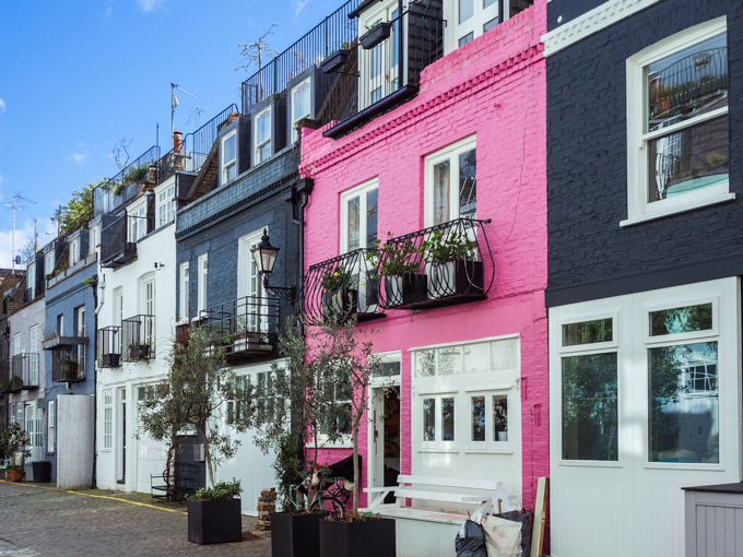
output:
<path id="1" fill-rule="evenodd" d="M 426 275 L 418 272 L 422 248 L 411 238 L 392 240 L 391 237 L 392 233 L 388 232 L 387 241 L 377 249 L 376 276 L 385 277 L 386 307 L 404 307 L 426 300 Z"/>

